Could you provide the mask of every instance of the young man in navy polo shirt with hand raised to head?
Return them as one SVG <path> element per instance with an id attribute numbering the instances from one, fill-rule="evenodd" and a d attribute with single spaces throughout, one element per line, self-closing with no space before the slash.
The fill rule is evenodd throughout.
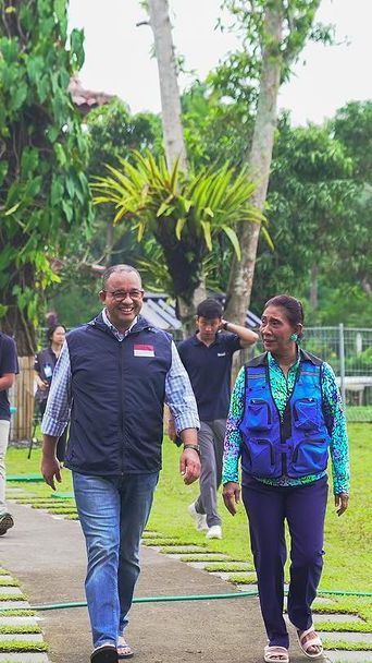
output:
<path id="1" fill-rule="evenodd" d="M 258 340 L 258 335 L 222 317 L 222 306 L 206 299 L 197 308 L 197 332 L 178 346 L 198 405 L 201 455 L 200 495 L 188 507 L 198 530 L 221 539 L 216 491 L 221 483 L 223 442 L 230 406 L 233 354 Z M 227 334 L 222 332 L 224 329 Z M 172 423 L 171 423 L 172 426 Z M 171 437 L 174 437 L 170 429 Z"/>

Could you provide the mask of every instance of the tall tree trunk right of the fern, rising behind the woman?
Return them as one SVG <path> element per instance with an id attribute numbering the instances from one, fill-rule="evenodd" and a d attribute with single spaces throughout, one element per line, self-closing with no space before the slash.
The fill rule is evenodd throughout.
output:
<path id="1" fill-rule="evenodd" d="M 261 210 L 266 200 L 276 126 L 276 104 L 283 65 L 280 49 L 283 21 L 282 2 L 268 2 L 257 118 L 249 156 L 251 177 L 257 182 L 251 202 Z M 227 318 L 240 324 L 245 322 L 250 303 L 259 234 L 259 224 L 240 224 L 241 261 L 238 262 L 235 256 L 233 258 L 225 313 Z"/>

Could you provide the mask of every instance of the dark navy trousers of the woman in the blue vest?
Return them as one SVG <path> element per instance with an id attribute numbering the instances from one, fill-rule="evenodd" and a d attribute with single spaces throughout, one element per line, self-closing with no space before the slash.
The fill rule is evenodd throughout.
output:
<path id="1" fill-rule="evenodd" d="M 299 630 L 312 625 L 311 604 L 323 567 L 326 498 L 326 477 L 295 487 L 271 486 L 252 477 L 244 478 L 243 502 L 270 644 L 289 644 L 283 618 L 285 520 L 290 534 L 288 617 Z"/>

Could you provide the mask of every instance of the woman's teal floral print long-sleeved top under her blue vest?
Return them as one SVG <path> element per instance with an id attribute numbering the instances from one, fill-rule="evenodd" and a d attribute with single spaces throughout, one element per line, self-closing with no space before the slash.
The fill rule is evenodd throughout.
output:
<path id="1" fill-rule="evenodd" d="M 268 352 L 271 390 L 282 418 L 286 403 L 290 398 L 295 386 L 300 361 L 301 353 L 299 352 L 296 363 L 290 366 L 287 376 L 285 376 L 274 357 Z M 349 492 L 349 445 L 346 431 L 346 420 L 343 412 L 343 403 L 336 384 L 335 374 L 331 366 L 325 362 L 323 363 L 321 388 L 323 395 L 325 422 L 331 435 L 330 453 L 332 460 L 333 492 L 335 495 L 339 495 L 340 493 Z M 240 457 L 240 447 L 243 445 L 239 423 L 244 414 L 244 403 L 245 370 L 241 369 L 233 389 L 226 423 L 222 472 L 223 483 L 227 483 L 228 481 L 234 481 L 237 483 L 239 481 L 238 462 Z M 324 477 L 325 473 L 326 472 L 323 471 L 318 474 L 309 474 L 298 479 L 289 479 L 288 477 L 280 477 L 278 479 L 262 479 L 257 477 L 257 479 L 270 485 L 293 486 L 311 483 L 312 481 L 317 481 L 318 479 Z"/>

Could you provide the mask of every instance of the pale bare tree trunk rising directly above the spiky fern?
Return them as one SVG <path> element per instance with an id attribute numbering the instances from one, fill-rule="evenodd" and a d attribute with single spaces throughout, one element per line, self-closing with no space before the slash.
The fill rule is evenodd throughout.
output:
<path id="1" fill-rule="evenodd" d="M 149 14 L 159 70 L 166 162 L 171 168 L 178 158 L 181 170 L 186 172 L 186 147 L 168 0 L 149 0 Z"/>

